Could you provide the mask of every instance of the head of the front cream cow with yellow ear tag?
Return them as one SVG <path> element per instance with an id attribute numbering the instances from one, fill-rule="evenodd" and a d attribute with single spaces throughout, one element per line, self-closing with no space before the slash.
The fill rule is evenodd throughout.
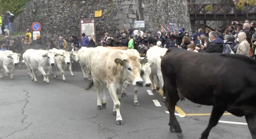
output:
<path id="1" fill-rule="evenodd" d="M 147 57 L 138 59 L 136 56 L 130 56 L 127 59 L 115 59 L 115 63 L 118 66 L 124 67 L 124 78 L 126 81 L 131 82 L 132 85 L 143 85 L 143 79 L 140 77 L 141 64 L 145 65 L 148 60 Z"/>

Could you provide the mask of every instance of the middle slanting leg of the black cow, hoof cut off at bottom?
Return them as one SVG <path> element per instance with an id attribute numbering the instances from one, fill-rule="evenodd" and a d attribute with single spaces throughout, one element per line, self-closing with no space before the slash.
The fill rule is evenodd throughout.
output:
<path id="1" fill-rule="evenodd" d="M 222 114 L 225 112 L 227 105 L 224 103 L 225 100 L 214 100 L 212 115 L 210 117 L 208 126 L 206 129 L 202 132 L 201 138 L 199 139 L 208 139 L 209 133 L 212 130 L 214 126 L 218 124 L 218 121 L 220 120 Z"/>

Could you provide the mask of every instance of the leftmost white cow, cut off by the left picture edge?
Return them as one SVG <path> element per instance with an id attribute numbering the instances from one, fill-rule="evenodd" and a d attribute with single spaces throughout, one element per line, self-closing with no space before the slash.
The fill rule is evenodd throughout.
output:
<path id="1" fill-rule="evenodd" d="M 0 78 L 4 78 L 1 74 L 1 69 L 3 68 L 7 74 L 11 74 L 11 79 L 13 79 L 13 70 L 16 65 L 18 65 L 20 59 L 20 54 L 13 53 L 10 50 L 0 51 Z M 9 69 L 10 70 L 9 70 Z"/>

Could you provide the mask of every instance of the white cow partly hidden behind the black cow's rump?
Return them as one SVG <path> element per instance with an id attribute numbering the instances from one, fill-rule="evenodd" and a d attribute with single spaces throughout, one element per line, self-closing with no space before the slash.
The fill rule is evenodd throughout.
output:
<path id="1" fill-rule="evenodd" d="M 152 66 L 151 68 L 151 74 L 150 74 L 150 79 L 152 83 L 152 92 L 156 93 L 156 90 L 159 90 L 160 87 L 163 88 L 163 76 L 161 72 L 161 59 L 160 56 L 164 56 L 168 49 L 167 48 L 160 48 L 159 46 L 153 46 L 152 48 L 147 50 L 147 59 L 148 63 L 156 63 Z M 158 64 L 157 64 L 158 63 Z M 156 88 L 154 84 L 154 75 L 156 75 L 157 83 L 156 83 Z M 159 83 L 159 80 L 161 81 L 161 85 Z M 165 96 L 163 97 L 165 100 Z M 163 100 L 163 101 L 164 101 Z"/>

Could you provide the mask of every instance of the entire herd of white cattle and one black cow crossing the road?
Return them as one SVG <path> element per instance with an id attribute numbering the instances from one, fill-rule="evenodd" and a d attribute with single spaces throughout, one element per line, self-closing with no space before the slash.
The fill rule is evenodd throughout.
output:
<path id="1" fill-rule="evenodd" d="M 18 53 L 0 51 L 0 70 L 10 74 L 18 65 Z M 106 108 L 104 87 L 109 90 L 114 102 L 113 114 L 116 124 L 122 125 L 120 99 L 125 95 L 128 84 L 134 87 L 134 105 L 138 87 L 152 86 L 152 92 L 160 88 L 164 91 L 165 105 L 170 113 L 170 131 L 177 132 L 183 138 L 181 127 L 174 115 L 176 103 L 189 99 L 194 103 L 213 106 L 212 115 L 200 139 L 207 139 L 210 130 L 217 125 L 225 111 L 235 116 L 245 116 L 252 138 L 256 139 L 256 61 L 238 54 L 195 53 L 178 48 L 160 48 L 154 46 L 147 51 L 146 57 L 140 57 L 137 50 L 111 49 L 98 46 L 83 47 L 78 52 L 65 50 L 29 49 L 23 54 L 28 75 L 37 82 L 37 69 L 43 75 L 43 81 L 49 83 L 50 72 L 57 77 L 61 71 L 62 80 L 66 81 L 64 70 L 71 71 L 71 60 L 79 61 L 85 79 L 93 85 L 97 93 L 97 108 Z M 154 85 L 154 75 L 157 87 Z M 3 75 L 0 72 L 0 78 Z"/>

